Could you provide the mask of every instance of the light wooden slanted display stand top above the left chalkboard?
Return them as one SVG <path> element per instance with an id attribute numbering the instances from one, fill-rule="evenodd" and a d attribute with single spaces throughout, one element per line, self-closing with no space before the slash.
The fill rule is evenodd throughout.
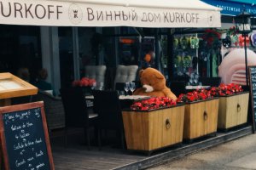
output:
<path id="1" fill-rule="evenodd" d="M 0 99 L 38 94 L 38 88 L 15 75 L 0 73 Z"/>

